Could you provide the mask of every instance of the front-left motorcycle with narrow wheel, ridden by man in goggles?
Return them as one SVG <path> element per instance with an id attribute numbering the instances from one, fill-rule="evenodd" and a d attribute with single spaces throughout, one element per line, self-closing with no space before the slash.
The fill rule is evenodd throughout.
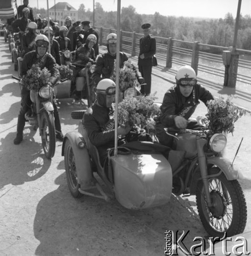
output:
<path id="1" fill-rule="evenodd" d="M 12 78 L 18 80 L 20 86 L 22 86 L 22 79 L 15 76 L 12 76 Z M 60 83 L 60 81 L 57 82 L 54 87 Z M 54 157 L 56 148 L 53 87 L 43 86 L 39 91 L 31 90 L 30 97 L 32 104 L 25 118 L 33 127 L 33 130 L 36 131 L 39 128 L 45 157 L 51 159 Z"/>

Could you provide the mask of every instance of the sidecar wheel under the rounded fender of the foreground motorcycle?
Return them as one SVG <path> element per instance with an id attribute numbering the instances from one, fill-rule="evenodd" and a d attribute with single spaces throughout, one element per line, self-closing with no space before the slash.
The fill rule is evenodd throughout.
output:
<path id="1" fill-rule="evenodd" d="M 75 198 L 82 197 L 83 194 L 81 194 L 79 191 L 80 184 L 78 183 L 75 157 L 72 146 L 68 139 L 65 141 L 64 146 L 64 167 L 66 172 L 66 180 L 71 195 Z"/>

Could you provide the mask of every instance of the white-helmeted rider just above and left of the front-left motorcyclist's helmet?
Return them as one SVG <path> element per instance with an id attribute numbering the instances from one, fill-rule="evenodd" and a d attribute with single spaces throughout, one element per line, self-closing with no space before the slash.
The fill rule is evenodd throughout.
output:
<path id="1" fill-rule="evenodd" d="M 24 33 L 22 35 L 22 51 L 20 56 L 23 58 L 24 54 L 35 50 L 35 38 L 37 36 L 36 34 L 37 24 L 35 22 L 30 22 L 28 24 L 28 32 Z"/>

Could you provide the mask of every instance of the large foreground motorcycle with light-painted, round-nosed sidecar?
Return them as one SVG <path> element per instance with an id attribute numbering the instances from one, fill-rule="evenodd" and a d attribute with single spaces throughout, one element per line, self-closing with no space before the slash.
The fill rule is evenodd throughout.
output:
<path id="1" fill-rule="evenodd" d="M 84 112 L 73 111 L 71 117 L 82 119 Z M 174 133 L 173 149 L 186 152 L 177 169 L 172 170 L 162 154 L 163 145 L 148 141 L 126 143 L 118 147 L 117 155 L 109 150 L 108 162 L 102 166 L 81 120 L 78 131 L 67 133 L 62 145 L 71 195 L 116 199 L 135 210 L 164 205 L 172 194 L 195 195 L 200 220 L 210 236 L 220 238 L 227 232 L 230 237 L 243 232 L 247 209 L 237 181 L 242 175 L 221 156 L 227 138 L 203 128 L 166 132 Z"/>

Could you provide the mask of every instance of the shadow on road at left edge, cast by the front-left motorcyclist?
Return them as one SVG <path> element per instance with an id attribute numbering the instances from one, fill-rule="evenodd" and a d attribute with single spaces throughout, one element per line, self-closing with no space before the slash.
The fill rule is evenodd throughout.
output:
<path id="1" fill-rule="evenodd" d="M 8 184 L 20 185 L 34 181 L 47 172 L 51 160 L 45 158 L 42 145 L 34 141 L 34 133 L 25 129 L 20 145 L 13 143 L 16 133 L 9 133 L 1 139 L 0 189 Z"/>

